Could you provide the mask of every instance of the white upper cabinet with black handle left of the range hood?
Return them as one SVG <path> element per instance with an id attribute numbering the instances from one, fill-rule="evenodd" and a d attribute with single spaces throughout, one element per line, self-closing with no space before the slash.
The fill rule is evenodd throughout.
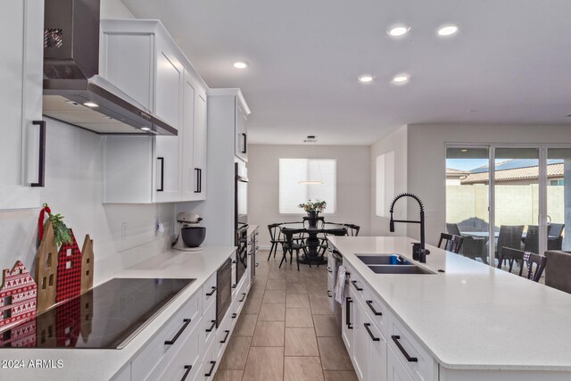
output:
<path id="1" fill-rule="evenodd" d="M 0 70 L 0 210 L 37 208 L 45 158 L 39 130 L 42 119 L 44 2 L 4 0 L 0 4 L 5 37 Z M 34 121 L 37 124 L 34 124 Z M 44 145 L 45 147 L 45 145 Z"/>

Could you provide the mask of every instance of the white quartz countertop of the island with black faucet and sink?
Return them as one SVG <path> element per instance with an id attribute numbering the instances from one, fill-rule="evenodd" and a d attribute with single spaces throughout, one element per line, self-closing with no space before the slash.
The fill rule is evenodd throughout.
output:
<path id="1" fill-rule="evenodd" d="M 426 264 L 415 263 L 434 275 L 375 274 L 355 254 L 411 260 L 418 241 L 329 240 L 444 368 L 571 370 L 570 294 L 430 245 Z"/>

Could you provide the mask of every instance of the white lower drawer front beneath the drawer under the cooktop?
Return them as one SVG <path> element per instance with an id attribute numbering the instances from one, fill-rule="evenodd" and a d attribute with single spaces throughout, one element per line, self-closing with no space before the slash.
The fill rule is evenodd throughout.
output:
<path id="1" fill-rule="evenodd" d="M 178 353 L 175 354 L 174 359 L 166 366 L 166 369 L 161 369 L 161 376 L 155 377 L 151 375 L 149 379 L 164 381 L 193 380 L 202 364 L 200 350 L 200 327 L 197 326 L 194 327 Z"/>

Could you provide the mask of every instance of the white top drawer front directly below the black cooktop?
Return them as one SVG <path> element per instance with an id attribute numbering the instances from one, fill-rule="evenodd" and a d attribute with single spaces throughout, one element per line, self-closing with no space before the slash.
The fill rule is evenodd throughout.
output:
<path id="1" fill-rule="evenodd" d="M 137 354 L 131 364 L 132 379 L 145 379 L 159 363 L 168 363 L 171 353 L 178 352 L 192 329 L 198 326 L 201 312 L 200 297 L 200 294 L 194 294 L 143 351 Z"/>

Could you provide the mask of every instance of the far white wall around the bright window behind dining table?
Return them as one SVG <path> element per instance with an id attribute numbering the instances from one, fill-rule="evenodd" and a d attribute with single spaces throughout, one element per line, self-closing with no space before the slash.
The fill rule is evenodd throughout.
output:
<path id="1" fill-rule="evenodd" d="M 370 147 L 365 145 L 248 145 L 248 221 L 260 225 L 262 246 L 269 245 L 268 225 L 302 219 L 300 214 L 279 214 L 279 158 L 337 160 L 337 212 L 326 220 L 354 223 L 360 236 L 370 233 Z M 300 200 L 300 203 L 303 200 Z M 300 211 L 302 211 L 300 209 Z"/>

